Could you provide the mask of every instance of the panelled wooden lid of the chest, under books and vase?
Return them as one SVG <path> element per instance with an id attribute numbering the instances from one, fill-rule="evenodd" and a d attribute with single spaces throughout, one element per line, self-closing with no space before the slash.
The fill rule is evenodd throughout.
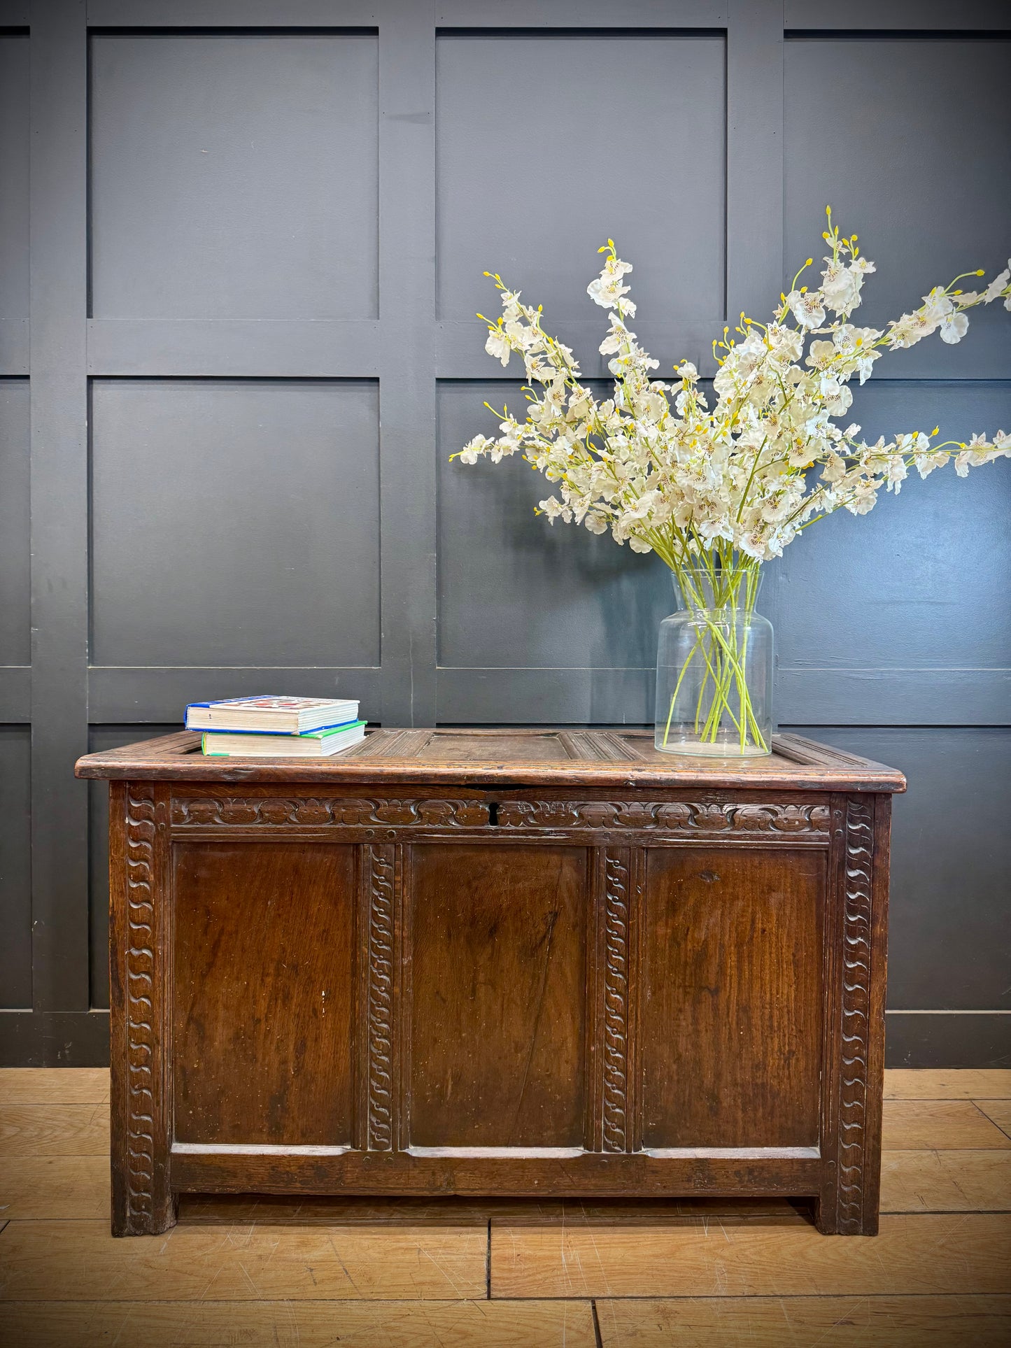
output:
<path id="1" fill-rule="evenodd" d="M 651 731 L 377 729 L 330 759 L 204 758 L 195 731 L 162 735 L 78 759 L 75 775 L 178 782 L 363 782 L 461 786 L 720 786 L 776 790 L 905 791 L 896 768 L 817 744 L 772 736 L 772 754 L 709 759 L 659 754 Z"/>

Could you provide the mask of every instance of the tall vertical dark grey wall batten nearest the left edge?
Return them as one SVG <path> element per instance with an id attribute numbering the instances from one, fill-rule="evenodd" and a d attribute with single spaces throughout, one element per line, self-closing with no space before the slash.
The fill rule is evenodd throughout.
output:
<path id="1" fill-rule="evenodd" d="M 88 80 L 84 5 L 32 5 L 32 1007 L 88 1014 Z M 73 1041 L 71 1041 L 73 1042 Z M 53 1045 L 53 1053 L 61 1045 Z"/>

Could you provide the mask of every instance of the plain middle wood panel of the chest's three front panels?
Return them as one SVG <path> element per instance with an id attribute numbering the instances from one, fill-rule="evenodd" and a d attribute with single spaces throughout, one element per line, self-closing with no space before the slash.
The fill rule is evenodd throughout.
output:
<path id="1" fill-rule="evenodd" d="M 412 852 L 411 1143 L 581 1146 L 586 849 Z"/>

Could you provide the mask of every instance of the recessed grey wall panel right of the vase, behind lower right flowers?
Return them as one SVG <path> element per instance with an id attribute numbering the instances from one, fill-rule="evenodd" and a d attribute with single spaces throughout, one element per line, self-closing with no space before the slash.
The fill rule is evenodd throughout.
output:
<path id="1" fill-rule="evenodd" d="M 1011 330 L 1011 315 L 1004 318 Z M 944 438 L 968 439 L 973 431 L 1011 430 L 1011 383 L 872 380 L 855 390 L 848 415 L 871 442 L 937 425 Z M 882 492 L 869 515 L 838 511 L 811 526 L 775 563 L 780 669 L 828 671 L 829 698 L 836 669 L 909 670 L 903 720 L 918 718 L 922 694 L 913 671 L 1007 670 L 1008 518 L 1011 461 L 999 460 L 967 479 L 950 464 L 925 481 L 914 472 L 898 497 Z M 872 697 L 868 690 L 867 709 L 853 708 L 849 718 L 876 718 Z M 1003 702 L 1004 717 L 1007 710 Z M 797 717 L 785 706 L 780 718 Z M 946 718 L 965 716 L 953 705 Z"/>

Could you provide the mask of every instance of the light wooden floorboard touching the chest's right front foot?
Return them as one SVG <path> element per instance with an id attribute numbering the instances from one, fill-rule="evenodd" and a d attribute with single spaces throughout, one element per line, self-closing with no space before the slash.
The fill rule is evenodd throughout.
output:
<path id="1" fill-rule="evenodd" d="M 1011 1217 L 883 1216 L 874 1240 L 813 1227 L 492 1223 L 493 1297 L 1003 1293 Z"/>

